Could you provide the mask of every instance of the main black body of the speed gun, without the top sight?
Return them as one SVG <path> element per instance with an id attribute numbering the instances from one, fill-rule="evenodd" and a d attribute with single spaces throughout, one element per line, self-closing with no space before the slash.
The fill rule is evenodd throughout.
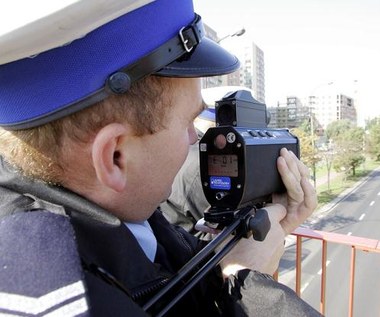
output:
<path id="1" fill-rule="evenodd" d="M 298 138 L 287 129 L 210 128 L 200 140 L 199 153 L 202 187 L 211 207 L 236 210 L 283 192 L 277 170 L 283 147 L 299 157 Z"/>

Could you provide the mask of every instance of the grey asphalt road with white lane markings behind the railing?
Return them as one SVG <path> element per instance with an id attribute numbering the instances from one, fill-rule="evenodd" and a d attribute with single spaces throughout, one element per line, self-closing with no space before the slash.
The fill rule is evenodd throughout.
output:
<path id="1" fill-rule="evenodd" d="M 339 202 L 318 211 L 312 229 L 380 240 L 380 171 Z M 280 282 L 294 289 L 295 247 L 291 241 L 280 264 Z M 330 243 L 327 249 L 326 316 L 348 316 L 351 248 Z M 320 301 L 321 242 L 304 239 L 301 297 L 316 309 Z M 354 316 L 380 316 L 380 254 L 357 251 Z"/>

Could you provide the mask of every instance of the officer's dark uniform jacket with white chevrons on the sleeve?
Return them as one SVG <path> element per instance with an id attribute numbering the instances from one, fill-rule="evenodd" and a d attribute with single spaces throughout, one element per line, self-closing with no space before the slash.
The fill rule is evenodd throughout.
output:
<path id="1" fill-rule="evenodd" d="M 0 315 L 156 315 L 165 302 L 148 312 L 142 306 L 205 242 L 159 211 L 149 223 L 158 243 L 154 263 L 117 218 L 0 160 Z M 267 275 L 243 270 L 223 281 L 215 268 L 165 316 L 319 314 Z"/>

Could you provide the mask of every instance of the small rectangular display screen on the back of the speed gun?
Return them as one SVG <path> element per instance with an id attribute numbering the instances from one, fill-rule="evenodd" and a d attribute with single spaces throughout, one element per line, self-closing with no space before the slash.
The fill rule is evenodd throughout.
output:
<path id="1" fill-rule="evenodd" d="M 231 155 L 209 155 L 208 174 L 214 176 L 238 176 L 238 157 Z"/>

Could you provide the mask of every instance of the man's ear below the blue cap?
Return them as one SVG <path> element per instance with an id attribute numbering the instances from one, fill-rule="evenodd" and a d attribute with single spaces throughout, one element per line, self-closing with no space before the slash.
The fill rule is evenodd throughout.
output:
<path id="1" fill-rule="evenodd" d="M 121 142 L 129 132 L 124 124 L 108 124 L 97 133 L 92 145 L 92 161 L 98 180 L 117 192 L 122 191 L 127 182 Z"/>

